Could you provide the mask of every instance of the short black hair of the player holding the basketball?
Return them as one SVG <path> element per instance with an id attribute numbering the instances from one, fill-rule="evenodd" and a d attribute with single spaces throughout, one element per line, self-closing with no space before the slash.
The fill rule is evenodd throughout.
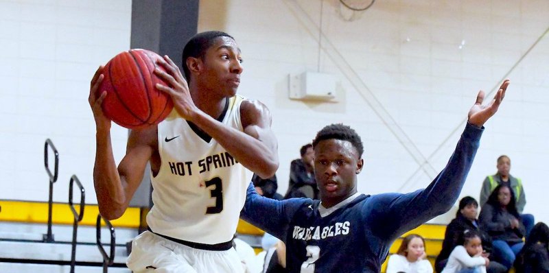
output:
<path id="1" fill-rule="evenodd" d="M 213 45 L 215 39 L 222 36 L 229 37 L 233 40 L 235 39 L 233 36 L 219 31 L 200 32 L 189 39 L 187 45 L 183 48 L 183 62 L 181 63 L 187 82 L 191 80 L 191 71 L 189 71 L 189 67 L 187 67 L 187 58 L 194 57 L 203 59 L 206 51 Z"/>

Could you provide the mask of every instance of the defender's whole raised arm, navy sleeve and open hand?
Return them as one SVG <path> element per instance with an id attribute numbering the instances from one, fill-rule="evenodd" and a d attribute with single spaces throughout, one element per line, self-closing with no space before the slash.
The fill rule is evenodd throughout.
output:
<path id="1" fill-rule="evenodd" d="M 385 228 L 382 229 L 383 233 L 399 236 L 445 213 L 454 205 L 478 150 L 482 126 L 498 110 L 507 86 L 509 86 L 509 80 L 503 82 L 498 93 L 487 106 L 482 106 L 484 92 L 478 93 L 474 106 L 469 110 L 469 122 L 456 145 L 454 154 L 427 188 L 404 195 L 388 195 L 390 198 L 384 200 L 389 204 L 386 214 L 399 215 L 399 217 L 388 217 Z M 399 214 L 401 211 L 407 213 Z"/>

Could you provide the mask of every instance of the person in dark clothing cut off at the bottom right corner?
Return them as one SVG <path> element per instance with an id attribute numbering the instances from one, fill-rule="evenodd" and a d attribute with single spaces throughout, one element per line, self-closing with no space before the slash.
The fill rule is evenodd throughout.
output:
<path id="1" fill-rule="evenodd" d="M 537 223 L 515 259 L 516 273 L 549 273 L 549 227 Z"/>

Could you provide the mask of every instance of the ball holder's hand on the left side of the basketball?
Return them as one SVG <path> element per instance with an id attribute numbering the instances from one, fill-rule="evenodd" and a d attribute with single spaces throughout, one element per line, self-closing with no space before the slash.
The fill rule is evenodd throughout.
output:
<path id="1" fill-rule="evenodd" d="M 91 111 L 93 112 L 93 118 L 95 119 L 95 126 L 102 129 L 110 129 L 110 119 L 106 117 L 101 108 L 103 99 L 105 99 L 107 93 L 106 91 L 100 91 L 101 82 L 104 79 L 103 75 L 103 66 L 100 66 L 90 82 L 90 95 L 88 97 L 88 102 L 91 106 Z"/>

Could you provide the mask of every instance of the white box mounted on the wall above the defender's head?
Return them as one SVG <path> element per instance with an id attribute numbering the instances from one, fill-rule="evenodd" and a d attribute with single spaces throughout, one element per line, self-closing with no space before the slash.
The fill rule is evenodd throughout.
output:
<path id="1" fill-rule="evenodd" d="M 328 73 L 303 72 L 289 75 L 290 99 L 335 102 L 336 76 Z"/>

